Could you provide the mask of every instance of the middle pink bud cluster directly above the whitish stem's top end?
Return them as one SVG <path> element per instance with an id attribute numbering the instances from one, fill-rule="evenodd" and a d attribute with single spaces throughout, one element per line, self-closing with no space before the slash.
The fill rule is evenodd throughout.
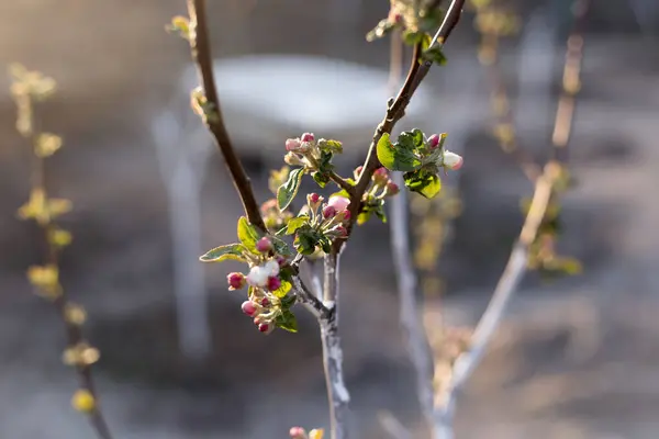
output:
<path id="1" fill-rule="evenodd" d="M 345 226 L 350 219 L 350 211 L 348 211 L 350 200 L 340 195 L 330 196 L 326 203 L 324 200 L 317 193 L 306 195 L 311 222 L 327 237 L 343 238 L 348 233 Z"/>

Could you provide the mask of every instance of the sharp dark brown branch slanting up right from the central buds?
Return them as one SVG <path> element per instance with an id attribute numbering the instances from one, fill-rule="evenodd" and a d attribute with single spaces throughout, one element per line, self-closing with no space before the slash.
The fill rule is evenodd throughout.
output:
<path id="1" fill-rule="evenodd" d="M 434 47 L 436 45 L 444 45 L 446 40 L 450 36 L 453 30 L 458 24 L 458 21 L 460 20 L 463 5 L 465 0 L 451 1 L 450 7 L 446 12 L 446 16 L 444 18 L 439 30 L 433 37 L 429 47 Z M 376 146 L 378 145 L 380 137 L 382 137 L 384 133 L 391 134 L 398 121 L 400 121 L 404 116 L 405 109 L 407 108 L 412 95 L 414 94 L 414 92 L 418 88 L 418 85 L 421 83 L 421 81 L 423 81 L 423 79 L 431 70 L 431 67 L 433 66 L 432 60 L 426 60 L 423 64 L 420 64 L 420 56 L 421 46 L 417 45 L 414 47 L 414 53 L 412 55 L 412 64 L 410 66 L 410 70 L 407 71 L 405 82 L 403 83 L 401 90 L 399 91 L 393 102 L 391 102 L 391 104 L 388 105 L 384 119 L 382 120 L 382 122 L 380 122 L 373 134 L 373 138 L 369 146 L 368 154 L 366 156 L 366 161 L 364 164 L 364 170 L 359 176 L 359 179 L 357 180 L 357 184 L 355 185 L 355 193 L 353 194 L 353 196 L 350 196 L 350 224 L 347 227 L 348 235 L 351 232 L 351 228 L 355 224 L 355 221 L 357 219 L 359 210 L 361 207 L 361 198 L 364 196 L 364 193 L 368 188 L 373 171 L 378 168 L 379 165 L 378 156 L 376 155 Z M 335 249 L 340 248 L 344 241 L 345 239 L 337 240 Z"/>

